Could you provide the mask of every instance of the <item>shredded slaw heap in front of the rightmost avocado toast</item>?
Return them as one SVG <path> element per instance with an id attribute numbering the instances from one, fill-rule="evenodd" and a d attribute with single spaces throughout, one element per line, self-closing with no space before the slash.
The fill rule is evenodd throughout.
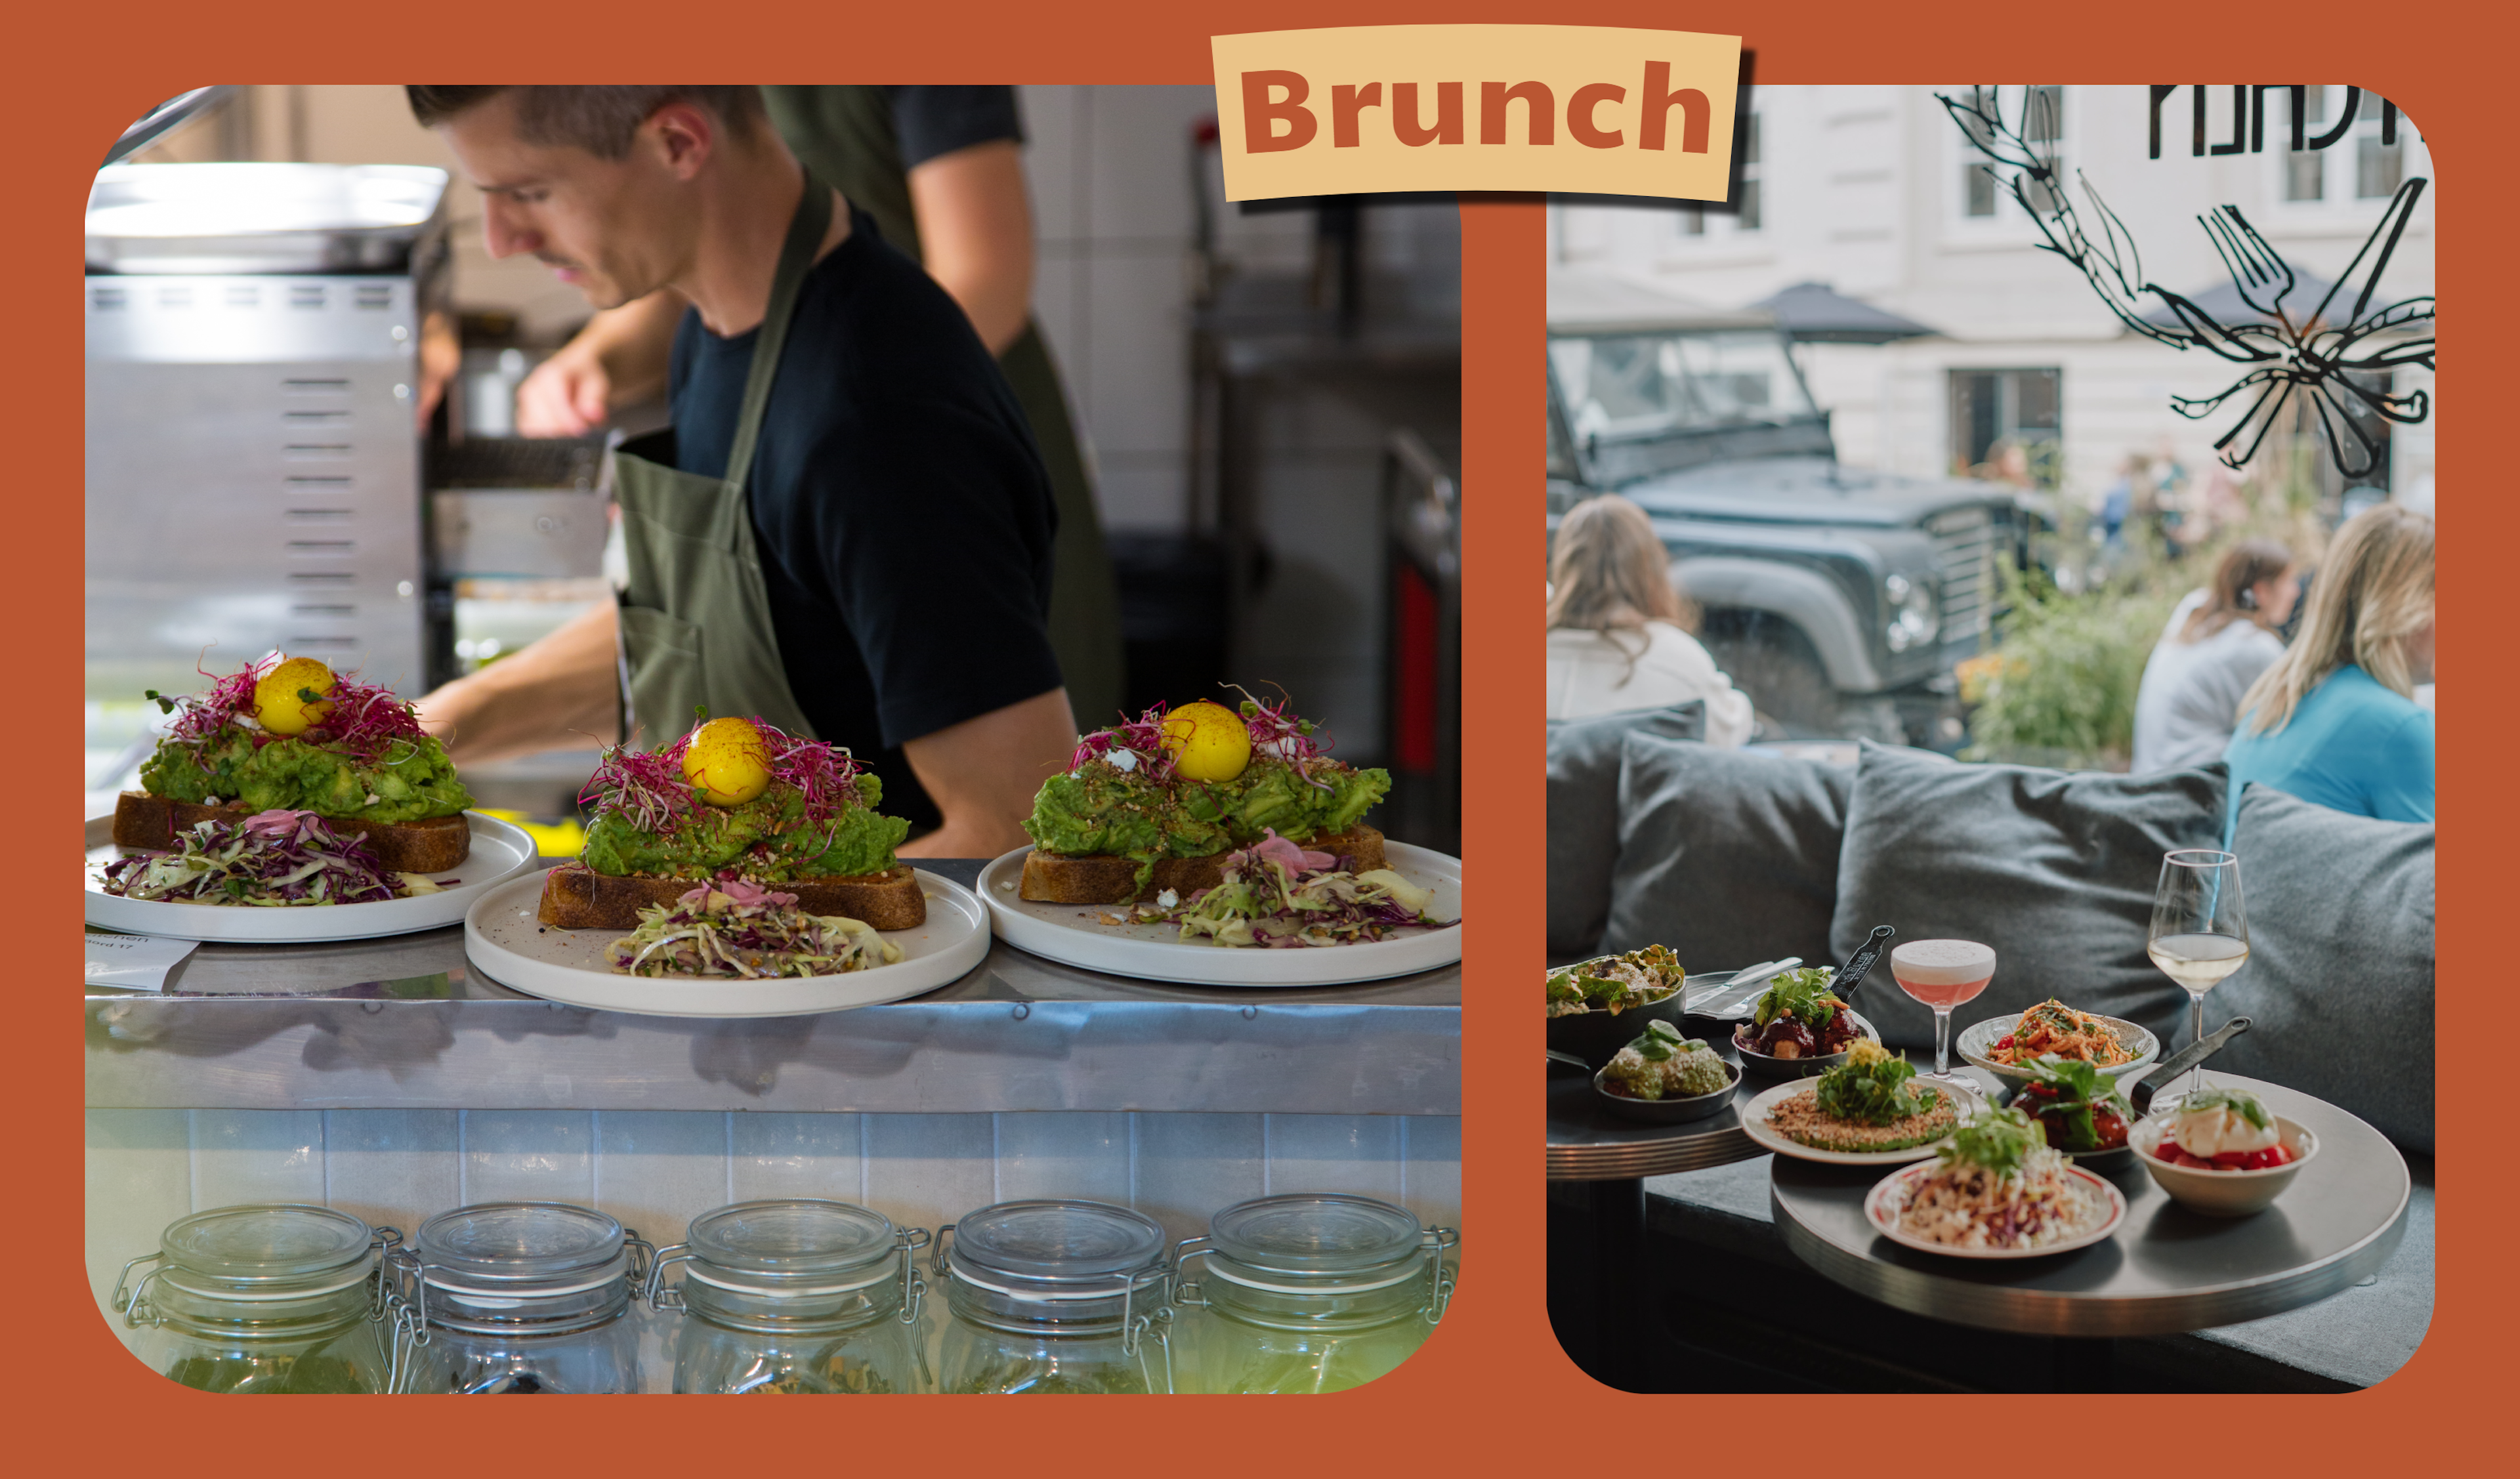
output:
<path id="1" fill-rule="evenodd" d="M 1222 882 L 1189 899 L 1139 905 L 1111 922 L 1172 922 L 1182 940 L 1275 950 L 1356 945 L 1386 940 L 1394 930 L 1449 930 L 1459 920 L 1431 920 L 1431 889 L 1419 889 L 1391 869 L 1353 872 L 1353 857 L 1310 852 L 1275 831 L 1225 854 Z M 1404 892 L 1409 897 L 1404 897 Z"/>

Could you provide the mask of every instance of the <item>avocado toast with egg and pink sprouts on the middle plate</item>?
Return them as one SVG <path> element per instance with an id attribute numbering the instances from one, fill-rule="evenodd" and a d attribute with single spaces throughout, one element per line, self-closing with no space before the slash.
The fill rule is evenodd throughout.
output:
<path id="1" fill-rule="evenodd" d="M 892 852 L 910 824 L 879 814 L 882 799 L 849 751 L 764 721 L 716 718 L 648 753 L 615 746 L 580 796 L 595 811 L 585 854 L 544 874 L 537 917 L 635 930 L 640 910 L 741 877 L 809 915 L 910 930 L 927 897 Z"/>

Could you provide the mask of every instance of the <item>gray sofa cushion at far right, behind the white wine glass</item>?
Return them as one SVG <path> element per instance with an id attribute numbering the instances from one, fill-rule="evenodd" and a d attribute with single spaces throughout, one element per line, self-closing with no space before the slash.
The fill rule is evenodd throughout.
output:
<path id="1" fill-rule="evenodd" d="M 2213 1068 L 2316 1094 L 2429 1154 L 2432 826 L 2248 786 L 2233 852 L 2248 965 L 2205 998 L 2205 1023 L 2250 1028 Z"/>

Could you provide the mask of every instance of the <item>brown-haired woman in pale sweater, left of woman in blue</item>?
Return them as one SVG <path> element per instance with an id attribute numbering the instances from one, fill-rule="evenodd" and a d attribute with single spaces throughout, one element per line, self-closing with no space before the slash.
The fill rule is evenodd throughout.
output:
<path id="1" fill-rule="evenodd" d="M 2301 600 L 2293 552 L 2243 539 L 2215 564 L 2213 587 L 2192 590 L 2170 612 L 2134 693 L 2137 776 L 2223 758 L 2240 723 L 2240 695 L 2283 658 L 2276 635 Z"/>

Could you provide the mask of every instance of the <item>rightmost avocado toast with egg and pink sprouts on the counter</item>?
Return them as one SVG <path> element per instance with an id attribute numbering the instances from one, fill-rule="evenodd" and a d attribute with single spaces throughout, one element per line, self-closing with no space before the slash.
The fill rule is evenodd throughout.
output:
<path id="1" fill-rule="evenodd" d="M 1285 705 L 1242 700 L 1149 708 L 1079 738 L 1068 768 L 1043 781 L 1023 829 L 1018 897 L 1043 905 L 1121 905 L 1162 889 L 1217 887 L 1225 854 L 1270 831 L 1346 859 L 1386 867 L 1383 834 L 1363 814 L 1391 774 L 1333 761 L 1310 721 Z"/>

